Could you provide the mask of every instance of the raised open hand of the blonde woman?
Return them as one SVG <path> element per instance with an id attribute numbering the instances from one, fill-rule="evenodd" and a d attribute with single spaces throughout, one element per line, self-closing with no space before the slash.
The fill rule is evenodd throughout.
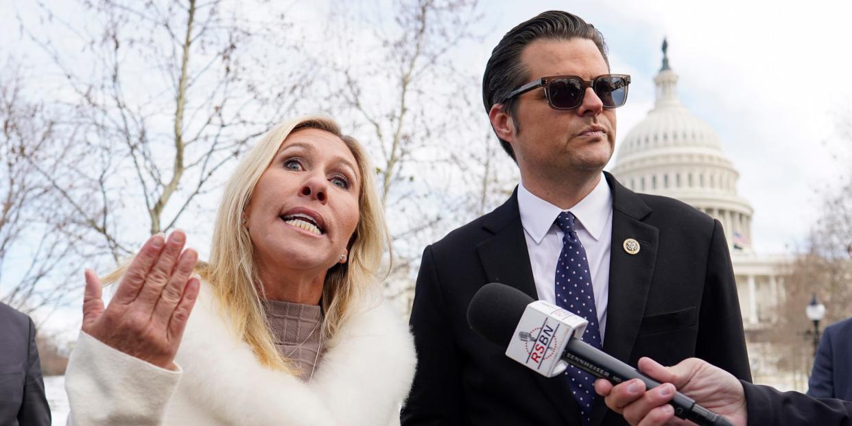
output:
<path id="1" fill-rule="evenodd" d="M 155 366 L 175 369 L 189 313 L 199 295 L 192 277 L 199 255 L 183 250 L 187 235 L 177 230 L 166 240 L 153 235 L 130 263 L 109 306 L 101 299 L 101 280 L 86 269 L 83 331 L 125 354 Z"/>

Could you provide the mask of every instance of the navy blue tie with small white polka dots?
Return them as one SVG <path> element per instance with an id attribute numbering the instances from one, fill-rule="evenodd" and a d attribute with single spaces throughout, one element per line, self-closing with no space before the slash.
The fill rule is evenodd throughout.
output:
<path id="1" fill-rule="evenodd" d="M 601 331 L 597 324 L 595 293 L 591 287 L 589 261 L 585 249 L 577 237 L 575 217 L 563 211 L 556 217 L 556 226 L 562 237 L 562 252 L 556 262 L 556 305 L 589 321 L 583 334 L 583 342 L 601 349 Z M 595 399 L 595 377 L 575 366 L 568 366 L 565 375 L 574 399 L 580 406 L 580 417 L 584 426 L 591 423 L 591 406 Z"/>

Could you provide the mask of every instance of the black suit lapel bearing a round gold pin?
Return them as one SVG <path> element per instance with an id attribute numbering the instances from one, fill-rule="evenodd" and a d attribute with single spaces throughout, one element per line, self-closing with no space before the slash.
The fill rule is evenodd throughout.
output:
<path id="1" fill-rule="evenodd" d="M 613 240 L 609 260 L 609 298 L 607 306 L 607 331 L 603 350 L 627 362 L 639 325 L 645 313 L 645 302 L 651 288 L 654 264 L 657 260 L 659 229 L 642 222 L 651 213 L 636 193 L 621 186 L 612 175 L 607 183 L 613 190 Z M 636 239 L 640 250 L 630 255 L 624 248 L 626 239 Z M 596 400 L 593 409 L 594 423 L 606 414 L 602 399 Z"/>

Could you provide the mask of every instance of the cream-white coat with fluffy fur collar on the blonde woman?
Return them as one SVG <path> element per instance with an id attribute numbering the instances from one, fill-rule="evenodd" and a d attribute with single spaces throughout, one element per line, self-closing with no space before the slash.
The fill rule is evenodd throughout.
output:
<path id="1" fill-rule="evenodd" d="M 366 306 L 324 343 L 310 383 L 261 366 L 201 286 L 168 371 L 80 333 L 66 371 L 69 424 L 383 425 L 399 423 L 414 346 L 385 305 Z"/>

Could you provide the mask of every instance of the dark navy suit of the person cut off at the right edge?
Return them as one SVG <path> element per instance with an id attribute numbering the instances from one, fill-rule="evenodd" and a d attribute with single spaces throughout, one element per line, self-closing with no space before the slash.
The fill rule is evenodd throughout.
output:
<path id="1" fill-rule="evenodd" d="M 829 325 L 822 332 L 808 394 L 852 401 L 852 318 Z"/>

